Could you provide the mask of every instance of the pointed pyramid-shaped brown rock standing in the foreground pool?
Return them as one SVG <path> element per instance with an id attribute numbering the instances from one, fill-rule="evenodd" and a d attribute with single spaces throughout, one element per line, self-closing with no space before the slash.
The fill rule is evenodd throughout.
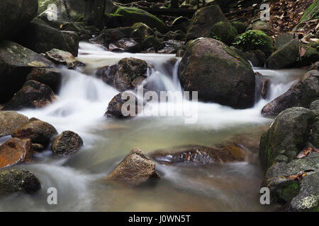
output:
<path id="1" fill-rule="evenodd" d="M 150 160 L 142 150 L 134 148 L 130 153 L 113 169 L 107 179 L 124 180 L 133 184 L 141 184 L 150 179 L 158 179 L 155 172 L 155 162 Z"/>

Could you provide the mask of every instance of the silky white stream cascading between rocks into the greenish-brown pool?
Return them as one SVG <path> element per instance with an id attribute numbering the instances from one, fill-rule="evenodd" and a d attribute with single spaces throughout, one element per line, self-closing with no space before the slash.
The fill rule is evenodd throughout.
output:
<path id="1" fill-rule="evenodd" d="M 57 101 L 44 109 L 21 111 L 47 121 L 59 133 L 71 130 L 82 137 L 84 148 L 66 158 L 55 158 L 48 150 L 31 164 L 17 165 L 35 174 L 42 189 L 34 195 L 13 194 L 0 198 L 0 211 L 269 211 L 259 203 L 263 173 L 257 157 L 259 138 L 272 123 L 262 117 L 262 107 L 286 92 L 305 73 L 302 69 L 254 68 L 271 80 L 269 97 L 250 109 L 232 109 L 215 103 L 189 102 L 198 120 L 185 124 L 184 114 L 172 117 L 139 115 L 129 120 L 106 119 L 108 102 L 118 91 L 94 77 L 101 66 L 135 57 L 152 64 L 148 80 L 161 89 L 181 93 L 175 58 L 170 54 L 107 52 L 99 45 L 80 43 L 79 61 L 84 71 L 61 68 L 62 88 Z M 180 103 L 176 103 L 177 107 Z M 172 107 L 162 102 L 145 111 Z M 189 109 L 184 109 L 185 111 Z M 186 113 L 186 112 L 185 112 Z M 186 114 L 185 114 L 186 115 Z M 10 137 L 0 138 L 0 144 Z M 124 186 L 106 181 L 106 176 L 133 148 L 145 153 L 180 145 L 213 145 L 236 141 L 252 149 L 245 162 L 222 165 L 157 165 L 162 179 L 147 186 Z M 47 203 L 47 189 L 57 189 L 57 205 Z"/>

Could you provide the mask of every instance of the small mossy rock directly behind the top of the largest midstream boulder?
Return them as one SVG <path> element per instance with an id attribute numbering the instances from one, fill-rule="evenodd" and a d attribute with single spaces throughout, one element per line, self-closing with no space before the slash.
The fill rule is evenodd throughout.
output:
<path id="1" fill-rule="evenodd" d="M 220 21 L 213 25 L 209 37 L 230 45 L 237 37 L 237 30 L 230 23 Z"/>

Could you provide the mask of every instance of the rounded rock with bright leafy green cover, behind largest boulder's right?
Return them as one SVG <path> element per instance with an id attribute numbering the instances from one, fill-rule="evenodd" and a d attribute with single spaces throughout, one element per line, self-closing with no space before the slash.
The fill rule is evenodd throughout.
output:
<path id="1" fill-rule="evenodd" d="M 259 49 L 269 55 L 274 51 L 272 38 L 261 30 L 248 30 L 238 35 L 233 44 L 237 49 L 242 49 L 245 52 Z"/>

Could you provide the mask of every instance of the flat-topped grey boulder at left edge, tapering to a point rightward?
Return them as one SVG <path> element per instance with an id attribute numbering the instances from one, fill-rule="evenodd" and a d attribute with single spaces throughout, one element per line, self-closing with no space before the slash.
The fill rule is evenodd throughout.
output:
<path id="1" fill-rule="evenodd" d="M 33 68 L 54 64 L 30 49 L 10 41 L 0 41 L 0 104 L 7 102 L 22 87 Z"/>

